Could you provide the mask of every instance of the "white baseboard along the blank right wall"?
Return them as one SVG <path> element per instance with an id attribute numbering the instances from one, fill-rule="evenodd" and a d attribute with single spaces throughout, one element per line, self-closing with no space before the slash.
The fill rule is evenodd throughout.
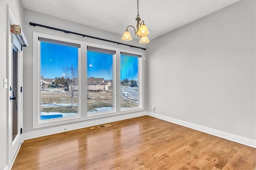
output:
<path id="1" fill-rule="evenodd" d="M 212 135 L 218 136 L 220 138 L 224 138 L 224 139 L 227 139 L 227 140 L 231 140 L 233 142 L 237 142 L 237 143 L 240 143 L 240 144 L 244 144 L 246 146 L 256 148 L 256 140 L 253 140 L 253 139 L 250 139 L 250 138 L 246 138 L 246 137 L 243 137 L 243 136 L 238 136 L 236 134 L 223 132 L 223 131 L 216 130 L 216 129 L 213 129 L 213 128 L 204 127 L 204 126 L 201 126 L 201 125 L 196 125 L 194 123 L 181 121 L 181 120 L 178 120 L 178 119 L 174 119 L 174 118 L 171 118 L 171 117 L 159 115 L 159 114 L 152 113 L 152 112 L 144 112 L 144 114 L 148 115 L 148 116 L 151 116 L 151 117 L 158 118 L 158 119 L 162 119 L 164 121 L 168 121 L 170 123 L 175 123 L 177 125 L 192 128 L 192 129 L 198 130 L 200 132 L 212 134 Z"/>

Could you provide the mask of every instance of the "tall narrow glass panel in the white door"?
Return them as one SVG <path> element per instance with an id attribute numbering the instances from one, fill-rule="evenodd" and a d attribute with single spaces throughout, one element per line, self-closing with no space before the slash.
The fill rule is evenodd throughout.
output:
<path id="1" fill-rule="evenodd" d="M 18 51 L 12 49 L 12 140 L 18 134 Z"/>

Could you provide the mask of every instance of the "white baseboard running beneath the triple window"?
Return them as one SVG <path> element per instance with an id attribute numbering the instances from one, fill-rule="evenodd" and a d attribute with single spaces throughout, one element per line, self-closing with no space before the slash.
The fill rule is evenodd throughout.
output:
<path id="1" fill-rule="evenodd" d="M 123 114 L 123 115 L 118 115 L 118 116 L 114 116 L 114 117 L 105 117 L 105 118 L 101 118 L 101 119 L 97 119 L 97 120 L 83 121 L 81 123 L 75 123 L 72 125 L 62 125 L 60 127 L 54 127 L 54 128 L 50 128 L 50 129 L 48 128 L 48 129 L 44 129 L 44 130 L 36 130 L 36 131 L 32 131 L 32 132 L 27 132 L 27 133 L 22 134 L 22 142 L 27 139 L 38 138 L 38 137 L 47 136 L 50 134 L 61 133 L 61 132 L 67 132 L 67 131 L 76 130 L 79 128 L 86 128 L 86 127 L 91 127 L 91 126 L 95 126 L 95 125 L 101 125 L 104 123 L 121 121 L 124 119 L 140 117 L 143 115 L 144 115 L 144 112 L 129 113 L 129 114 Z"/>

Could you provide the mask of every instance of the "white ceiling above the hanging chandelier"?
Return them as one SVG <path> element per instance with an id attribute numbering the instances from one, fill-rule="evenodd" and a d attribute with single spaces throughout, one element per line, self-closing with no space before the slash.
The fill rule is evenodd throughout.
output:
<path id="1" fill-rule="evenodd" d="M 150 40 L 239 0 L 140 0 Z M 136 0 L 21 0 L 24 8 L 122 35 L 136 27 Z M 40 21 L 37 22 L 40 24 Z M 134 34 L 132 28 L 128 29 Z M 72 31 L 72 30 L 71 30 Z"/>

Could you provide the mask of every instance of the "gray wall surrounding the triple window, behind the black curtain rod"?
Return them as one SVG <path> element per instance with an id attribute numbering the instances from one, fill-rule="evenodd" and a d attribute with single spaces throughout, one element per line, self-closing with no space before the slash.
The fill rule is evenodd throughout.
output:
<path id="1" fill-rule="evenodd" d="M 31 10 L 24 10 L 24 34 L 26 35 L 26 38 L 29 42 L 29 47 L 26 47 L 24 49 L 24 110 L 23 110 L 23 129 L 24 133 L 32 132 L 32 131 L 37 131 L 37 130 L 43 130 L 43 129 L 51 129 L 53 127 L 47 127 L 47 128 L 38 128 L 38 129 L 33 129 L 33 111 L 32 111 L 32 101 L 33 99 L 33 93 L 32 93 L 32 87 L 33 87 L 33 44 L 32 44 L 32 38 L 33 38 L 33 32 L 39 32 L 43 34 L 49 34 L 49 35 L 54 35 L 54 36 L 59 36 L 59 37 L 64 37 L 64 38 L 70 38 L 74 40 L 79 40 L 79 41 L 86 41 L 90 43 L 96 43 L 100 45 L 107 45 L 111 47 L 117 47 L 121 49 L 128 49 L 128 50 L 133 50 L 133 51 L 139 51 L 139 52 L 144 52 L 142 49 L 137 49 L 137 48 L 132 48 L 129 46 L 124 46 L 124 45 L 117 45 L 115 43 L 110 43 L 110 42 L 103 42 L 100 40 L 95 40 L 91 38 L 83 38 L 82 36 L 77 36 L 74 34 L 66 34 L 64 32 L 59 32 L 55 30 L 50 30 L 42 27 L 34 27 L 30 26 L 29 22 L 34 22 L 37 24 L 42 24 L 46 26 L 51 26 L 55 28 L 60 28 L 63 30 L 69 30 L 72 32 L 78 32 L 81 34 L 86 34 L 90 36 L 95 36 L 98 38 L 103 38 L 107 40 L 112 40 L 116 42 L 122 42 L 121 38 L 122 35 L 114 34 L 111 32 L 107 32 L 104 30 L 100 30 L 97 28 L 92 28 L 89 26 L 85 26 L 82 24 L 78 24 L 75 22 L 70 22 L 68 20 L 63 20 L 60 18 L 55 18 L 52 16 L 48 16 L 45 14 L 41 14 L 38 12 L 33 12 Z M 127 42 L 128 44 L 135 45 L 135 46 L 140 46 L 140 47 L 145 47 L 146 45 L 142 45 L 139 43 L 139 40 L 133 39 L 130 42 Z M 146 69 L 146 67 L 144 67 Z M 146 75 L 145 75 L 146 77 Z M 146 79 L 145 79 L 146 80 Z M 145 97 L 146 98 L 146 97 Z M 145 102 L 144 102 L 145 103 Z M 145 103 L 146 105 L 146 103 Z M 76 124 L 76 123 L 70 123 L 71 124 Z M 63 126 L 63 125 L 60 125 Z M 54 127 L 60 127 L 60 126 L 54 126 Z"/>

